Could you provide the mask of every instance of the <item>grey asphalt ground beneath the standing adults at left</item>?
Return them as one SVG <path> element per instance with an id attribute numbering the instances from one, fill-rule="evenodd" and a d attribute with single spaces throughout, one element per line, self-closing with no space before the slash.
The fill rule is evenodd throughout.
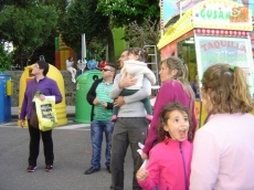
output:
<path id="1" fill-rule="evenodd" d="M 44 155 L 41 146 L 38 169 L 33 173 L 25 171 L 29 154 L 29 131 L 17 126 L 17 119 L 0 124 L 0 190 L 107 190 L 110 175 L 103 159 L 102 170 L 93 175 L 83 175 L 89 168 L 91 140 L 89 125 L 68 124 L 53 130 L 54 169 L 44 172 Z M 130 151 L 125 162 L 125 190 L 131 190 L 133 163 Z"/>

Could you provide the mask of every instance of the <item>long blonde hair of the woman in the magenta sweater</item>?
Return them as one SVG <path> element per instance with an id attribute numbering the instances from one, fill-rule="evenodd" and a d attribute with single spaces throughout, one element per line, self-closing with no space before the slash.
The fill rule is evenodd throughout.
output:
<path id="1" fill-rule="evenodd" d="M 183 62 L 176 57 L 170 56 L 161 62 L 161 64 L 165 63 L 169 71 L 177 70 L 177 74 L 173 76 L 174 80 L 178 80 L 181 82 L 181 85 L 183 89 L 190 95 L 191 99 L 194 101 L 194 92 L 191 88 L 191 85 L 188 81 L 188 67 Z"/>

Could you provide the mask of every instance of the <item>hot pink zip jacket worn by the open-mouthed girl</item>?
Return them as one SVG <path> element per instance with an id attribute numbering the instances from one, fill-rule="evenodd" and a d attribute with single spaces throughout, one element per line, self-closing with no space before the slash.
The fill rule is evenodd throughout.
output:
<path id="1" fill-rule="evenodd" d="M 188 190 L 192 144 L 167 138 L 150 150 L 148 178 L 138 181 L 145 190 Z"/>

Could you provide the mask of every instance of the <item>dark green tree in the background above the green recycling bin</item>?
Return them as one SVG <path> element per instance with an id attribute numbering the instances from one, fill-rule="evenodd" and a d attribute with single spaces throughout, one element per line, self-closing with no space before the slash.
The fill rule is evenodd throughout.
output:
<path id="1" fill-rule="evenodd" d="M 60 23 L 60 32 L 63 41 L 76 52 L 81 52 L 82 33 L 85 33 L 88 49 L 93 44 L 97 46 L 108 44 L 108 57 L 109 61 L 113 61 L 114 42 L 109 28 L 109 18 L 96 12 L 97 2 L 98 0 L 72 1 Z"/>

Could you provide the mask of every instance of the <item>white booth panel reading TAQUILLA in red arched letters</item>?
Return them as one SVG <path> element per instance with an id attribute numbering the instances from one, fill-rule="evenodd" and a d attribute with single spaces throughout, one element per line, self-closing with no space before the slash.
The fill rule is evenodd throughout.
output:
<path id="1" fill-rule="evenodd" d="M 195 36 L 199 78 L 203 72 L 216 63 L 227 63 L 244 70 L 254 96 L 254 66 L 250 39 L 223 36 Z"/>

